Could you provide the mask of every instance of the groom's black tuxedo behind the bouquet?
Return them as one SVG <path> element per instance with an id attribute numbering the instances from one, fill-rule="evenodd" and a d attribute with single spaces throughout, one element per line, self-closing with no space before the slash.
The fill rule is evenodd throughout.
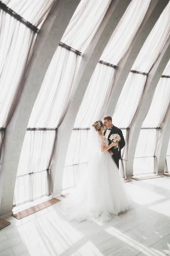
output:
<path id="1" fill-rule="evenodd" d="M 107 131 L 107 128 L 105 129 L 103 135 L 106 134 L 106 131 Z M 116 165 L 117 165 L 117 167 L 119 169 L 119 159 L 121 159 L 121 149 L 123 147 L 125 147 L 125 139 L 123 137 L 122 131 L 118 127 L 113 125 L 112 128 L 111 128 L 111 132 L 110 132 L 110 134 L 108 136 L 109 145 L 112 143 L 111 140 L 109 139 L 111 137 L 111 134 L 119 134 L 119 136 L 121 137 L 121 140 L 119 142 L 119 151 L 118 151 L 118 148 L 114 149 L 112 147 L 112 148 L 109 149 L 109 151 L 113 152 L 113 156 L 112 157 L 113 157 L 113 159 L 114 159 L 114 161 L 115 161 L 115 163 L 116 163 Z"/>

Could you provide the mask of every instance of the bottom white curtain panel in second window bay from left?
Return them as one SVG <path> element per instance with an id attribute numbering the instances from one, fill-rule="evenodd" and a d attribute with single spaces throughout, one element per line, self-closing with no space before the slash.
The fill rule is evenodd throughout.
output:
<path id="1" fill-rule="evenodd" d="M 56 131 L 27 131 L 17 171 L 15 204 L 49 195 L 49 163 L 55 137 Z"/>

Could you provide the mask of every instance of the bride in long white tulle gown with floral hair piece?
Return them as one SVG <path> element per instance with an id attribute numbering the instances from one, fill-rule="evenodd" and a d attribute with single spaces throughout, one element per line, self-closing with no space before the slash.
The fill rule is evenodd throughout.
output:
<path id="1" fill-rule="evenodd" d="M 92 124 L 87 143 L 87 169 L 77 186 L 62 201 L 62 210 L 70 220 L 107 221 L 128 209 L 124 184 L 102 134 L 101 120 Z"/>

